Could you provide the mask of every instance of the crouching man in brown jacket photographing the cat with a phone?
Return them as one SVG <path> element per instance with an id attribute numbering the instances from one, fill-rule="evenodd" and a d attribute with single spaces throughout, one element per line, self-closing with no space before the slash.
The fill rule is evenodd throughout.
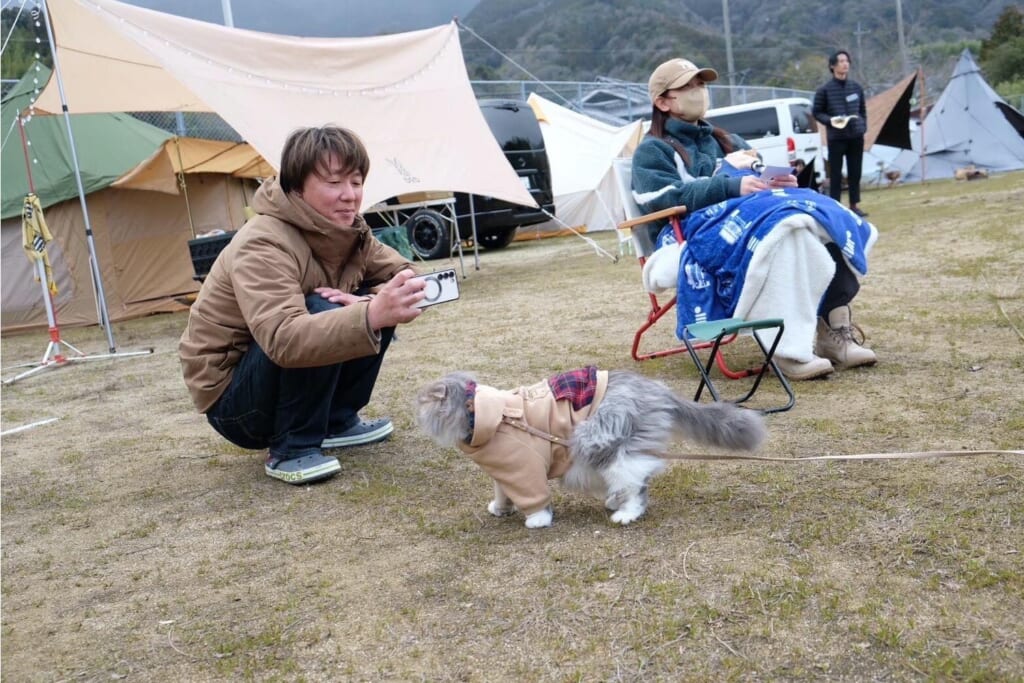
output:
<path id="1" fill-rule="evenodd" d="M 358 412 L 395 326 L 422 312 L 424 283 L 359 214 L 369 168 L 351 131 L 294 131 L 279 177 L 253 198 L 257 215 L 203 283 L 178 346 L 193 401 L 213 428 L 243 449 L 269 449 L 266 474 L 293 484 L 341 469 L 324 449 L 394 430 Z"/>

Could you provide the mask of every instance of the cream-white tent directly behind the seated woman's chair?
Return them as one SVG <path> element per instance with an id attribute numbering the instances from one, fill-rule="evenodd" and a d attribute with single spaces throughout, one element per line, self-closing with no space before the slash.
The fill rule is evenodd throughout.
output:
<path id="1" fill-rule="evenodd" d="M 587 232 L 614 228 L 615 217 L 622 215 L 623 209 L 611 162 L 633 154 L 640 140 L 641 123 L 611 126 L 536 92 L 526 101 L 541 124 L 559 221 Z M 548 221 L 520 233 L 529 237 L 557 231 L 559 226 L 556 221 Z"/>

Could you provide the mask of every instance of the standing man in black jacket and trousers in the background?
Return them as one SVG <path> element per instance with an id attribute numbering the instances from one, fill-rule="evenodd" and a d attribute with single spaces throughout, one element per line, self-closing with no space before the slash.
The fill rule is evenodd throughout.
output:
<path id="1" fill-rule="evenodd" d="M 828 131 L 828 194 L 837 202 L 843 197 L 843 160 L 850 193 L 850 210 L 858 216 L 867 214 L 860 204 L 860 174 L 864 161 L 864 132 L 867 130 L 867 104 L 864 89 L 849 78 L 850 53 L 837 50 L 828 57 L 833 77 L 814 93 L 814 118 Z"/>

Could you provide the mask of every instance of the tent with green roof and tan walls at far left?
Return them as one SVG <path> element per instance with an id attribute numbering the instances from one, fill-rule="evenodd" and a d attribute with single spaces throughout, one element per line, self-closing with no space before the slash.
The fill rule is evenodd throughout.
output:
<path id="1" fill-rule="evenodd" d="M 17 123 L 18 112 L 28 112 L 48 77 L 45 67 L 33 67 L 0 102 L 0 330 L 4 334 L 48 325 L 34 264 L 22 248 L 22 204 L 29 182 Z M 74 101 L 69 106 L 74 112 Z M 58 288 L 53 298 L 57 323 L 97 322 L 93 262 L 100 270 L 111 321 L 181 310 L 179 299 L 198 290 L 188 241 L 196 231 L 240 226 L 245 221 L 243 207 L 252 197 L 252 181 L 233 176 L 233 168 L 195 171 L 186 201 L 168 189 L 177 189 L 174 170 L 159 159 L 167 154 L 169 133 L 125 114 L 73 114 L 71 122 L 88 195 L 91 240 L 86 240 L 65 117 L 37 115 L 25 123 L 33 182 L 53 234 L 47 253 Z M 112 184 L 155 156 L 158 168 L 151 169 L 151 175 L 160 175 L 160 188 Z M 242 161 L 249 163 L 249 158 Z"/>

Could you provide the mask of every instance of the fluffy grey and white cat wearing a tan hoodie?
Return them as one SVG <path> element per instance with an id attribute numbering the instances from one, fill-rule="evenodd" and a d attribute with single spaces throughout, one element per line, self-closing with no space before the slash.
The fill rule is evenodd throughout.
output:
<path id="1" fill-rule="evenodd" d="M 416 398 L 420 427 L 468 454 L 495 481 L 487 512 L 519 510 L 526 526 L 550 526 L 549 479 L 604 499 L 611 520 L 629 524 L 647 509 L 647 482 L 674 435 L 753 451 L 765 437 L 759 413 L 728 402 L 695 403 L 635 373 L 594 367 L 531 386 L 501 390 L 456 372 Z"/>

